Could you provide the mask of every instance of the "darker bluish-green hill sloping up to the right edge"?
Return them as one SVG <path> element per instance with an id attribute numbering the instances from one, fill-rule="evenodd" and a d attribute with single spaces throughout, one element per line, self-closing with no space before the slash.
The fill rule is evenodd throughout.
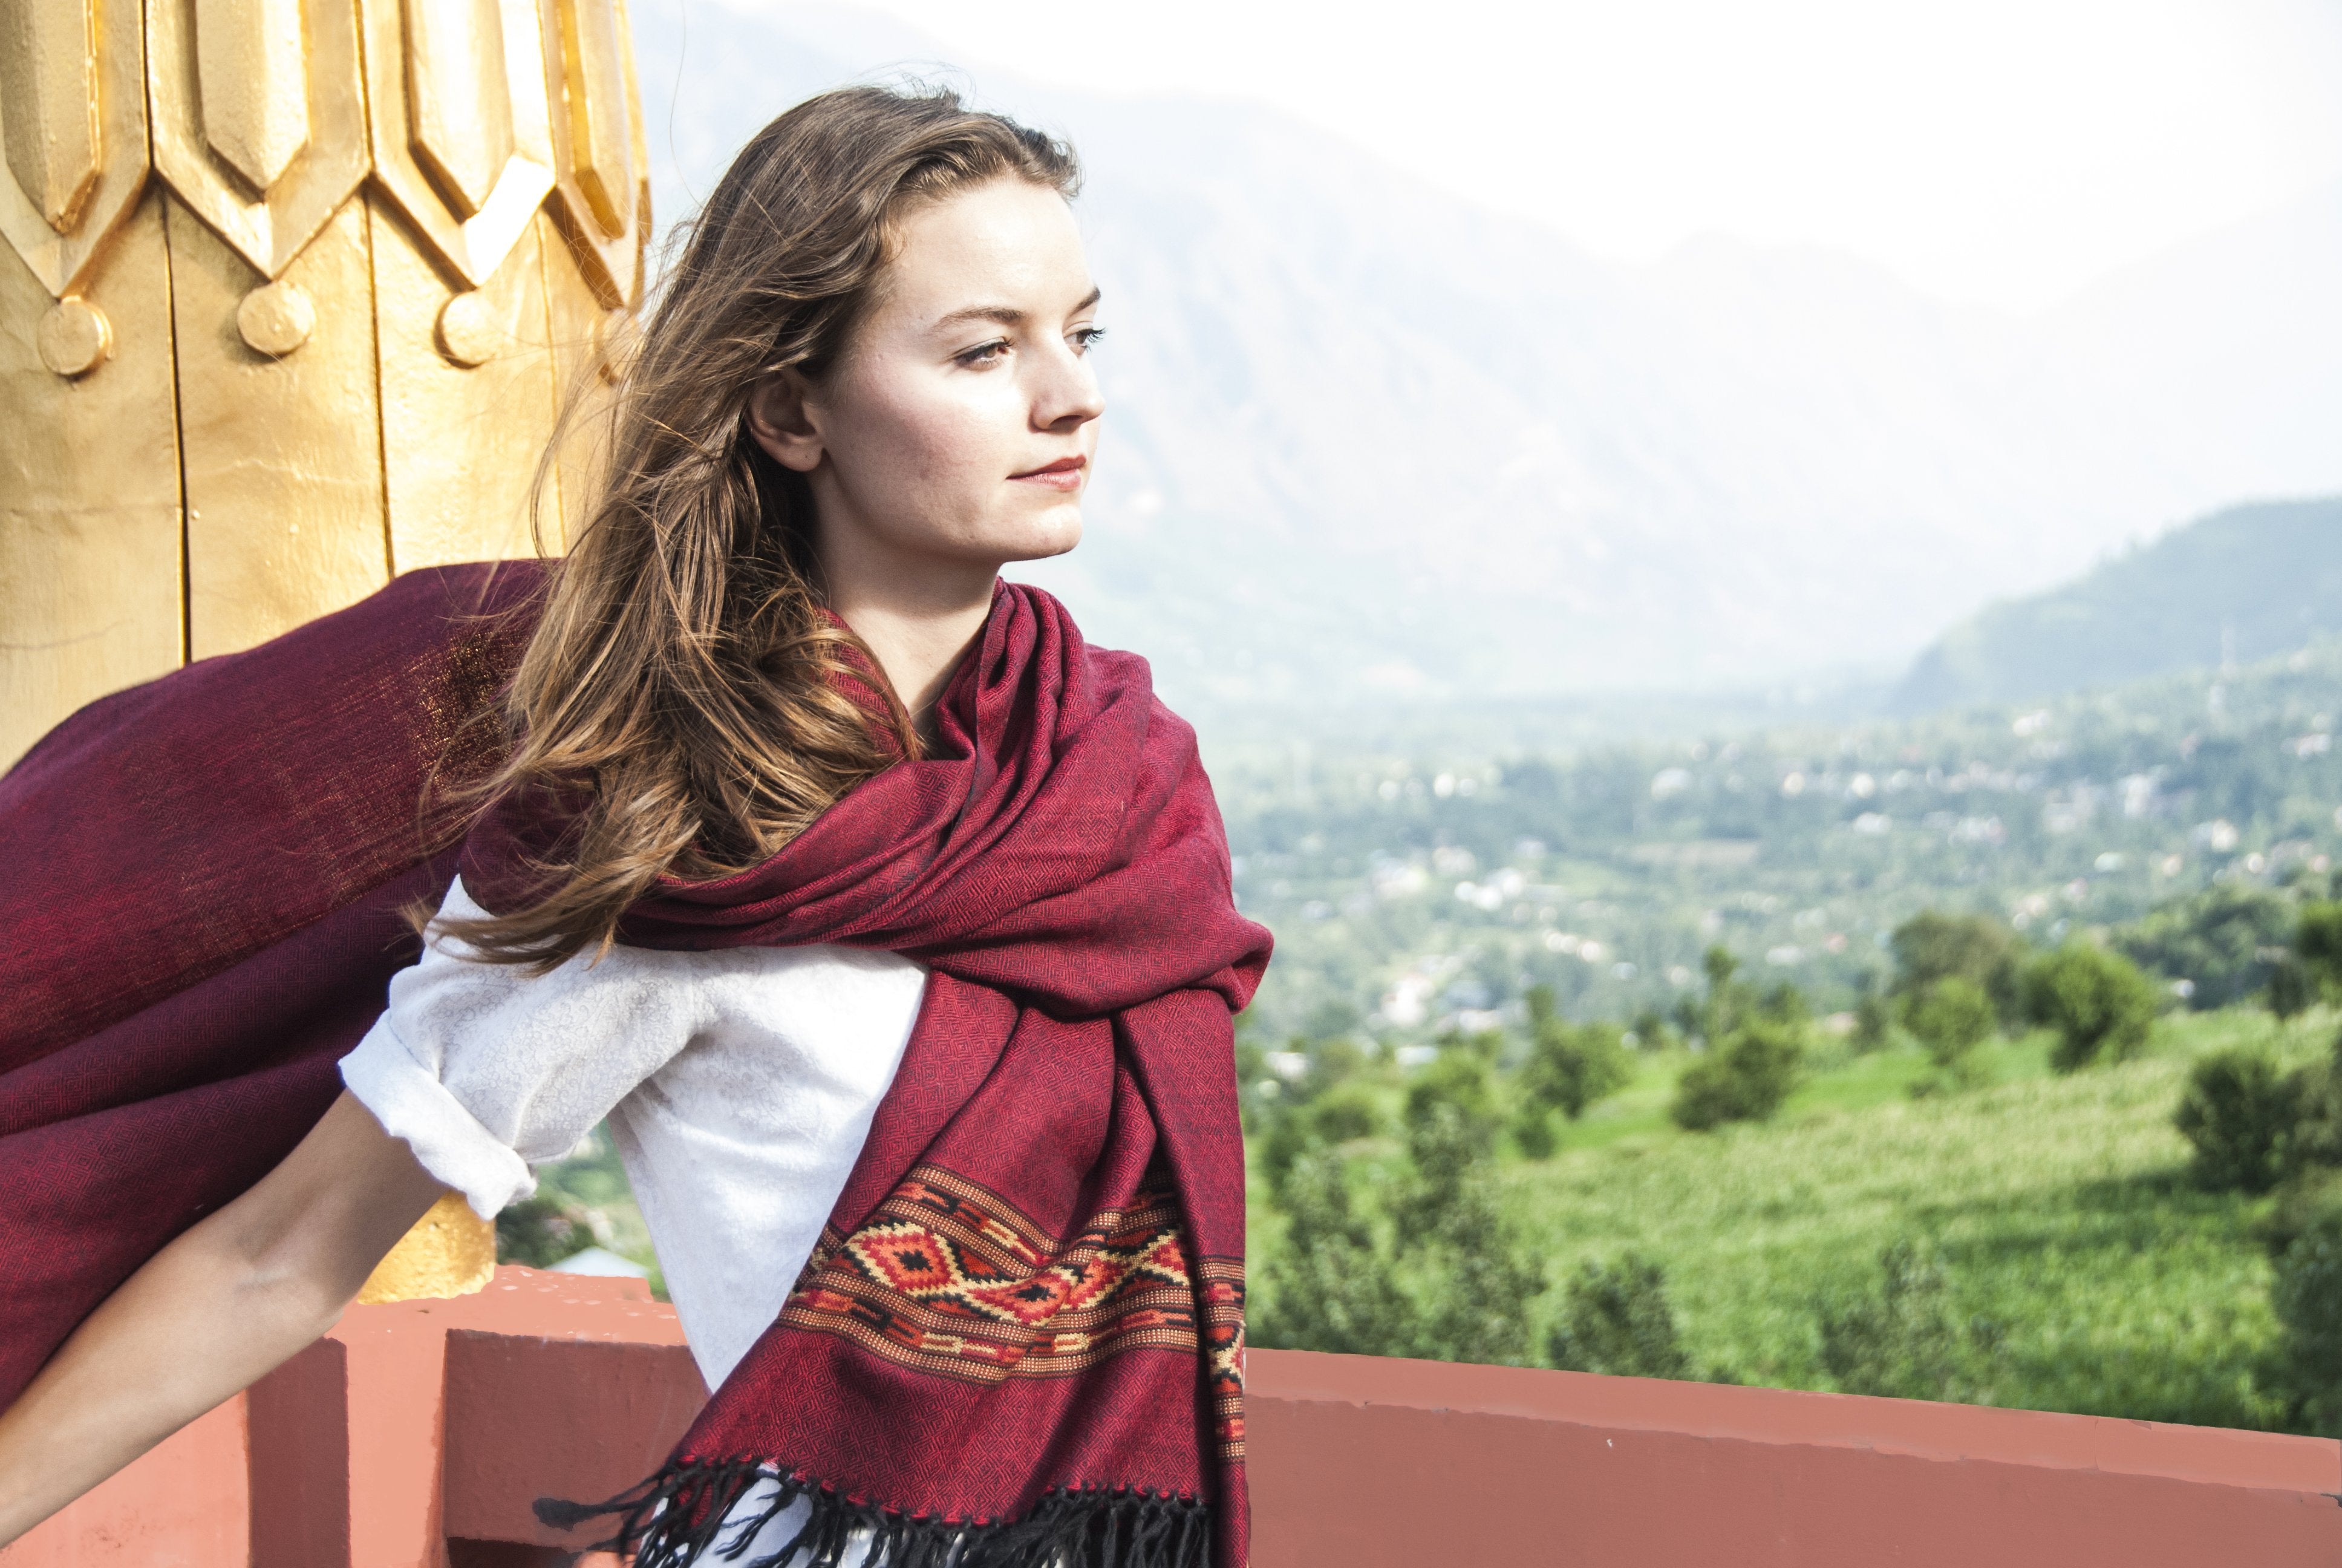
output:
<path id="1" fill-rule="evenodd" d="M 1890 705 L 2019 703 L 2169 670 L 2251 663 L 2342 630 L 2342 497 L 2234 506 L 1993 605 L 1918 656 Z"/>

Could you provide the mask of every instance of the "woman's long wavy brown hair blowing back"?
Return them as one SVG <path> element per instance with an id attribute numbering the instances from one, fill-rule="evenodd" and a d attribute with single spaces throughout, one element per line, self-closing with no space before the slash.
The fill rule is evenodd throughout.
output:
<path id="1" fill-rule="evenodd" d="M 756 865 L 918 755 L 876 661 L 824 612 L 813 495 L 749 436 L 747 401 L 782 370 L 817 384 L 850 352 L 906 213 L 1005 176 L 1080 183 L 1040 131 L 881 87 L 808 98 L 733 159 L 649 323 L 611 352 L 604 410 L 571 396 L 555 438 L 600 422 L 602 478 L 508 689 L 506 759 L 464 792 L 473 811 L 564 802 L 532 867 L 541 895 L 443 930 L 504 963 L 604 949 L 660 874 Z M 550 471 L 548 450 L 541 490 Z M 848 670 L 890 724 L 841 689 Z"/>

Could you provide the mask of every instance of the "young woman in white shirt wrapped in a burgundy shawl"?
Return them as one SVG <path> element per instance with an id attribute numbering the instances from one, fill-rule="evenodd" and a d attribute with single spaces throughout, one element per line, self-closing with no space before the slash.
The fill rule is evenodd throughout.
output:
<path id="1" fill-rule="evenodd" d="M 0 1542 L 607 1118 L 714 1395 L 548 1519 L 644 1568 L 1241 1566 L 1267 935 L 1145 666 L 998 579 L 1082 530 L 1073 190 L 949 94 L 789 110 L 564 563 L 400 579 L 0 780 L 0 848 L 84 846 L 0 895 Z"/>

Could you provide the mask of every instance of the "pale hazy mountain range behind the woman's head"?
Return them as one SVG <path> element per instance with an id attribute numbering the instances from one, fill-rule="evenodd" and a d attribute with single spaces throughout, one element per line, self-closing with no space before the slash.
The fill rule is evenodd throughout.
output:
<path id="1" fill-rule="evenodd" d="M 630 0 L 656 206 L 937 47 Z M 944 73 L 949 75 L 949 73 Z M 1834 684 L 2253 495 L 2342 490 L 2342 183 L 2031 316 L 1731 239 L 1614 265 L 1260 103 L 965 73 L 1082 148 L 1110 415 L 1021 570 L 1176 705 Z"/>

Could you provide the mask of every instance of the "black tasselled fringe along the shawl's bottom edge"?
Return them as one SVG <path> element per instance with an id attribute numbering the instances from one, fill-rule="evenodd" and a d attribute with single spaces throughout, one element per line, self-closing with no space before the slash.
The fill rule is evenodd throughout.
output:
<path id="1" fill-rule="evenodd" d="M 773 1498 L 726 1530 L 731 1512 L 763 1484 L 775 1484 Z M 536 1519 L 571 1530 L 616 1514 L 618 1533 L 590 1549 L 630 1556 L 632 1568 L 693 1568 L 703 1559 L 735 1563 L 799 1498 L 813 1502 L 806 1526 L 740 1568 L 841 1568 L 857 1535 L 869 1538 L 869 1568 L 1211 1568 L 1211 1507 L 1190 1498 L 1052 1491 L 1023 1519 L 946 1523 L 848 1502 L 759 1460 L 670 1465 L 607 1502 L 539 1498 Z"/>

